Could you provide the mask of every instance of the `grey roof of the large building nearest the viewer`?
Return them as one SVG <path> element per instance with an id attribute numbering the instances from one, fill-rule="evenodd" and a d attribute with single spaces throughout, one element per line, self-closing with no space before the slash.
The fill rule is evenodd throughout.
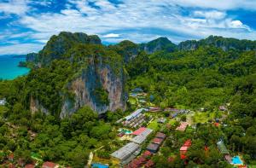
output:
<path id="1" fill-rule="evenodd" d="M 110 155 L 113 156 L 114 158 L 123 160 L 129 158 L 131 154 L 135 153 L 139 148 L 140 146 L 138 144 L 130 142 Z"/>

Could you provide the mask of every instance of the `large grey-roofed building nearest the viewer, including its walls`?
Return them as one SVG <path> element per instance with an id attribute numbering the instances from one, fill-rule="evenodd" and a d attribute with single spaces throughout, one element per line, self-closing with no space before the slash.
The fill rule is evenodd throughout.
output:
<path id="1" fill-rule="evenodd" d="M 119 150 L 115 151 L 113 154 L 110 154 L 110 156 L 113 160 L 119 162 L 120 165 L 126 165 L 132 159 L 135 159 L 140 151 L 141 148 L 137 143 L 130 142 L 124 147 L 119 148 Z"/>

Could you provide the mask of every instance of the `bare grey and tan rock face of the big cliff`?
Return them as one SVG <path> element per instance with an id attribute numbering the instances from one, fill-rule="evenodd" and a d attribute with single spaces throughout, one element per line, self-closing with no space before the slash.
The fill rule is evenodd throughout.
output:
<path id="1" fill-rule="evenodd" d="M 125 78 L 123 69 L 116 74 L 111 67 L 90 59 L 90 65 L 83 70 L 79 78 L 75 78 L 68 90 L 74 94 L 73 101 L 66 99 L 61 107 L 61 117 L 70 115 L 80 107 L 90 106 L 97 113 L 125 110 Z M 108 93 L 108 103 L 104 103 L 96 95 L 96 90 L 102 88 Z M 102 93 L 103 94 L 103 93 Z"/>

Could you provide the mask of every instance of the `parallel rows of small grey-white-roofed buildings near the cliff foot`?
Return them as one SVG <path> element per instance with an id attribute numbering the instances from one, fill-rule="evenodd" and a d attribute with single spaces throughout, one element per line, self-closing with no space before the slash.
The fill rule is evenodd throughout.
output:
<path id="1" fill-rule="evenodd" d="M 143 111 L 147 111 L 146 108 L 139 108 L 135 112 L 126 116 L 124 119 L 119 119 L 116 123 L 121 123 L 125 127 L 137 128 L 143 125 L 145 120 L 145 114 Z"/>

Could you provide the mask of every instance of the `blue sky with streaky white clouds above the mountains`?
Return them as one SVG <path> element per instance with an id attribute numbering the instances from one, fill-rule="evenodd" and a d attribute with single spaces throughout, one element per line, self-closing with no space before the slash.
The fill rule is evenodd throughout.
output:
<path id="1" fill-rule="evenodd" d="M 0 55 L 38 52 L 63 31 L 97 34 L 103 43 L 256 40 L 256 0 L 0 0 Z"/>

